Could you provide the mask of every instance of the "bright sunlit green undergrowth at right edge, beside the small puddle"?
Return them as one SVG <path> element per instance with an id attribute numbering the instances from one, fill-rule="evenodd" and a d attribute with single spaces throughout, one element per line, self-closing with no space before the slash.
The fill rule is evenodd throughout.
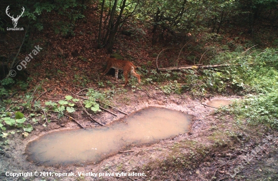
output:
<path id="1" fill-rule="evenodd" d="M 265 49 L 256 55 L 241 56 L 236 62 L 244 65 L 235 69 L 234 77 L 241 77 L 242 87 L 248 95 L 230 108 L 222 108 L 222 112 L 234 114 L 236 119 L 246 119 L 250 124 L 263 123 L 278 129 L 278 71 L 276 49 Z M 256 95 L 257 94 L 257 95 Z"/>

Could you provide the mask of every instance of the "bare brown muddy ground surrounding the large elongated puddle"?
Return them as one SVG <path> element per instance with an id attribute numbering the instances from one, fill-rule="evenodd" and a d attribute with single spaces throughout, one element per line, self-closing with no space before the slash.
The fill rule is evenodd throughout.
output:
<path id="1" fill-rule="evenodd" d="M 78 128 L 78 125 L 64 117 L 55 119 L 44 127 L 40 124 L 27 138 L 21 134 L 10 135 L 8 144 L 2 146 L 0 155 L 1 180 L 18 180 L 5 176 L 6 172 L 50 172 L 70 173 L 76 176 L 32 176 L 30 180 L 278 180 L 278 133 L 264 126 L 251 126 L 245 122 L 238 123 L 233 116 L 215 113 L 215 108 L 205 107 L 208 99 L 193 99 L 188 94 L 165 95 L 156 86 L 146 86 L 146 92 L 132 91 L 127 87 L 127 92 L 122 92 L 118 85 L 113 100 L 110 104 L 118 109 L 132 113 L 149 107 L 159 106 L 182 111 L 193 115 L 191 131 L 180 134 L 177 137 L 161 140 L 153 145 L 131 148 L 133 152 L 118 153 L 96 164 L 88 165 L 36 165 L 26 161 L 25 147 L 28 142 L 40 135 L 51 131 Z M 100 88 L 104 91 L 106 88 Z M 66 96 L 69 92 L 65 92 Z M 56 95 L 56 97 L 59 97 Z M 54 95 L 49 93 L 49 99 Z M 48 98 L 46 98 L 48 99 Z M 210 100 L 241 99 L 238 96 L 214 96 Z M 111 110 L 117 114 L 114 116 L 108 112 L 97 115 L 97 121 L 109 124 L 124 117 L 120 112 Z M 82 108 L 78 109 L 72 117 L 86 128 L 96 127 L 87 116 L 82 114 Z M 43 122 L 40 121 L 41 123 Z M 265 140 L 266 139 L 266 140 Z M 258 148 L 259 146 L 259 148 Z M 198 148 L 198 149 L 197 149 Z M 253 151 L 253 152 L 252 152 Z M 248 157 L 248 153 L 250 155 Z M 184 154 L 184 155 L 183 155 Z M 172 160 L 173 157 L 183 155 L 176 159 L 183 159 L 186 165 Z M 247 157 L 246 157 L 247 156 Z M 249 159 L 247 162 L 244 158 Z M 172 163 L 171 163 L 171 162 Z M 236 170 L 235 170 L 236 169 Z M 231 175 L 238 172 L 234 178 Z M 84 173 L 146 173 L 147 176 L 78 176 L 78 172 Z M 22 177 L 20 180 L 23 179 Z"/>

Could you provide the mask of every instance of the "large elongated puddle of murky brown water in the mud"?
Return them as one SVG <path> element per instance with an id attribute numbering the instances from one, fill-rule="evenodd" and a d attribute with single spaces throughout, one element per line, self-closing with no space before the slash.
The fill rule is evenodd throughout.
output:
<path id="1" fill-rule="evenodd" d="M 96 163 L 132 146 L 186 133 L 190 118 L 179 111 L 149 107 L 108 125 L 109 128 L 51 132 L 27 145 L 27 160 L 47 165 Z"/>

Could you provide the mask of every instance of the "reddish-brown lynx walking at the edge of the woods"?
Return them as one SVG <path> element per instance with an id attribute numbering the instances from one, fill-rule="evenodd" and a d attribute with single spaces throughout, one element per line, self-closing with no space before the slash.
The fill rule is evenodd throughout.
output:
<path id="1" fill-rule="evenodd" d="M 134 69 L 136 69 L 136 67 L 131 62 L 124 61 L 124 60 L 117 60 L 116 58 L 110 58 L 110 57 L 106 58 L 106 62 L 107 62 L 107 68 L 103 72 L 103 75 L 107 74 L 107 72 L 110 70 L 110 68 L 114 68 L 115 69 L 115 78 L 117 79 L 118 72 L 120 69 L 120 70 L 123 70 L 123 75 L 124 75 L 124 79 L 125 79 L 124 87 L 128 83 L 128 73 L 130 73 L 130 75 L 133 75 L 134 77 L 136 77 L 138 79 L 138 83 L 140 84 L 140 82 L 141 82 L 140 75 L 134 71 Z"/>

